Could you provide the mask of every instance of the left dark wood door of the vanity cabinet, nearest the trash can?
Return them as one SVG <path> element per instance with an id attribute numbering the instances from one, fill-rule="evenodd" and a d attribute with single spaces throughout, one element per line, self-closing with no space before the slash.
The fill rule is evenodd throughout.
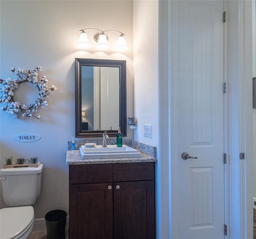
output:
<path id="1" fill-rule="evenodd" d="M 113 238 L 112 183 L 69 187 L 69 239 Z"/>

